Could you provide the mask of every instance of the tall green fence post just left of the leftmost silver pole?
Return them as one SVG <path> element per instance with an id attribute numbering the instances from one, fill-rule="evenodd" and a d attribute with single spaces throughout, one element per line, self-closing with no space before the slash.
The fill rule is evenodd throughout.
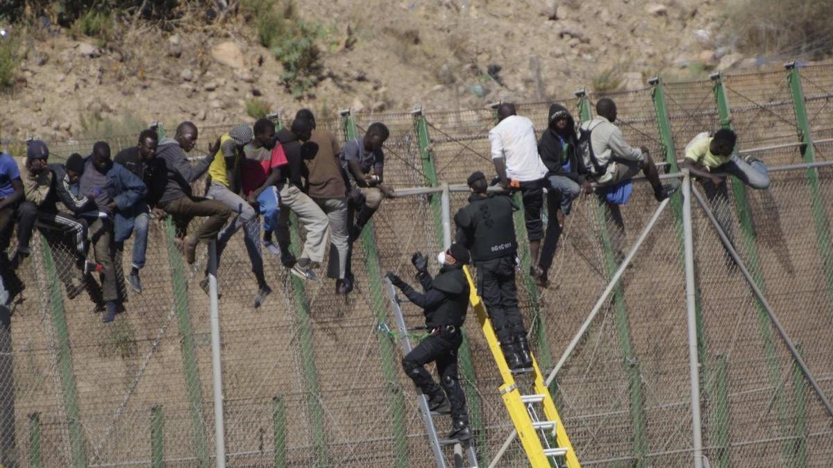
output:
<path id="1" fill-rule="evenodd" d="M 167 257 L 173 279 L 173 301 L 177 311 L 180 351 L 182 351 L 182 367 L 185 371 L 185 385 L 191 413 L 192 440 L 197 461 L 200 466 L 207 468 L 209 460 L 207 433 L 204 423 L 205 416 L 202 413 L 202 387 L 200 386 L 200 370 L 197 365 L 197 350 L 194 344 L 194 329 L 191 324 L 191 309 L 188 306 L 185 266 L 182 265 L 182 252 L 179 251 L 177 242 L 174 240 L 176 238 L 176 227 L 173 226 L 171 217 L 167 217 L 165 227 Z"/>

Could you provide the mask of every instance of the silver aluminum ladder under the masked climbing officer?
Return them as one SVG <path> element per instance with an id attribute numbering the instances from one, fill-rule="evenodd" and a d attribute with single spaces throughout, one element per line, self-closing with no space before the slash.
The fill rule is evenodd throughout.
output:
<path id="1" fill-rule="evenodd" d="M 394 289 L 391 281 L 385 278 L 385 290 L 387 291 L 387 297 L 391 301 L 391 310 L 393 311 L 393 316 L 397 319 L 397 330 L 399 331 L 399 335 L 401 336 L 400 343 L 402 343 L 402 352 L 404 355 L 411 352 L 413 346 L 411 345 L 411 339 L 408 337 L 408 326 L 405 323 L 405 316 L 402 315 L 402 307 L 399 306 L 402 300 L 397 297 L 397 291 Z M 436 460 L 436 468 L 450 468 L 448 465 L 448 461 L 446 461 L 446 455 L 443 451 L 443 447 L 446 446 L 454 446 L 454 465 L 456 467 L 466 467 L 466 468 L 477 468 L 477 456 L 474 451 L 474 444 L 471 440 L 461 442 L 456 439 L 443 439 L 436 433 L 436 424 L 434 423 L 434 416 L 431 415 L 431 411 L 428 410 L 428 397 L 423 395 L 419 389 L 416 389 L 416 392 L 419 394 L 417 398 L 417 403 L 419 405 L 420 414 L 422 416 L 422 422 L 425 424 L 425 429 L 428 434 L 428 439 L 431 441 L 431 451 L 434 453 L 434 459 Z M 472 437 L 473 439 L 473 437 Z M 463 452 L 465 451 L 465 456 Z M 467 459 L 467 462 L 464 460 Z"/>

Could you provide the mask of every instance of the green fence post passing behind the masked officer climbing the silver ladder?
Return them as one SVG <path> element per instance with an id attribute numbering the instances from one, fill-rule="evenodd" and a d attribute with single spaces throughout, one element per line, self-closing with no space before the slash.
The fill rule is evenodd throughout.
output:
<path id="1" fill-rule="evenodd" d="M 428 121 L 422 111 L 414 112 L 414 125 L 416 126 L 416 138 L 419 144 L 420 157 L 422 161 L 422 172 L 425 172 L 427 181 L 431 187 L 438 187 L 440 181 L 436 177 L 436 162 L 434 153 L 431 152 L 431 137 L 428 134 Z M 434 214 L 434 227 L 436 229 L 437 244 L 442 245 L 444 238 L 442 232 L 442 207 L 440 195 L 432 194 L 431 212 Z M 452 214 L 453 216 L 453 214 Z M 488 442 L 486 432 L 483 428 L 482 401 L 477 393 L 477 377 L 474 371 L 474 358 L 471 356 L 471 346 L 465 331 L 462 333 L 463 342 L 458 351 L 460 357 L 460 370 L 462 374 L 463 390 L 466 391 L 466 406 L 469 411 L 469 423 L 475 433 L 475 451 L 477 459 L 481 463 L 488 460 Z"/>

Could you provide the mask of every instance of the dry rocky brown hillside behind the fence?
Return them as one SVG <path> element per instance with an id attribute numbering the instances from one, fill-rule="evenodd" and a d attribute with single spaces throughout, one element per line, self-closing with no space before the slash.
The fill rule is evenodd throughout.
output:
<path id="1" fill-rule="evenodd" d="M 0 137 L 92 137 L 152 120 L 224 124 L 255 107 L 332 113 L 543 101 L 577 87 L 635 88 L 664 72 L 756 65 L 707 0 L 305 0 L 292 21 L 322 34 L 317 85 L 293 95 L 257 36 L 257 12 L 163 25 L 117 22 L 107 41 L 50 24 L 12 29 L 26 57 Z M 257 100 L 262 100 L 258 102 Z M 107 125 L 102 125 L 102 123 Z M 98 131 L 97 131 L 98 130 Z"/>

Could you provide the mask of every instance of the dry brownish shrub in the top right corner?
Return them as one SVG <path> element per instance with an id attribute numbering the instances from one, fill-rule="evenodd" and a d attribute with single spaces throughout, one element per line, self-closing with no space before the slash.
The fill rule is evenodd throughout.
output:
<path id="1" fill-rule="evenodd" d="M 728 5 L 727 31 L 747 52 L 810 58 L 831 52 L 830 0 L 742 0 Z"/>

